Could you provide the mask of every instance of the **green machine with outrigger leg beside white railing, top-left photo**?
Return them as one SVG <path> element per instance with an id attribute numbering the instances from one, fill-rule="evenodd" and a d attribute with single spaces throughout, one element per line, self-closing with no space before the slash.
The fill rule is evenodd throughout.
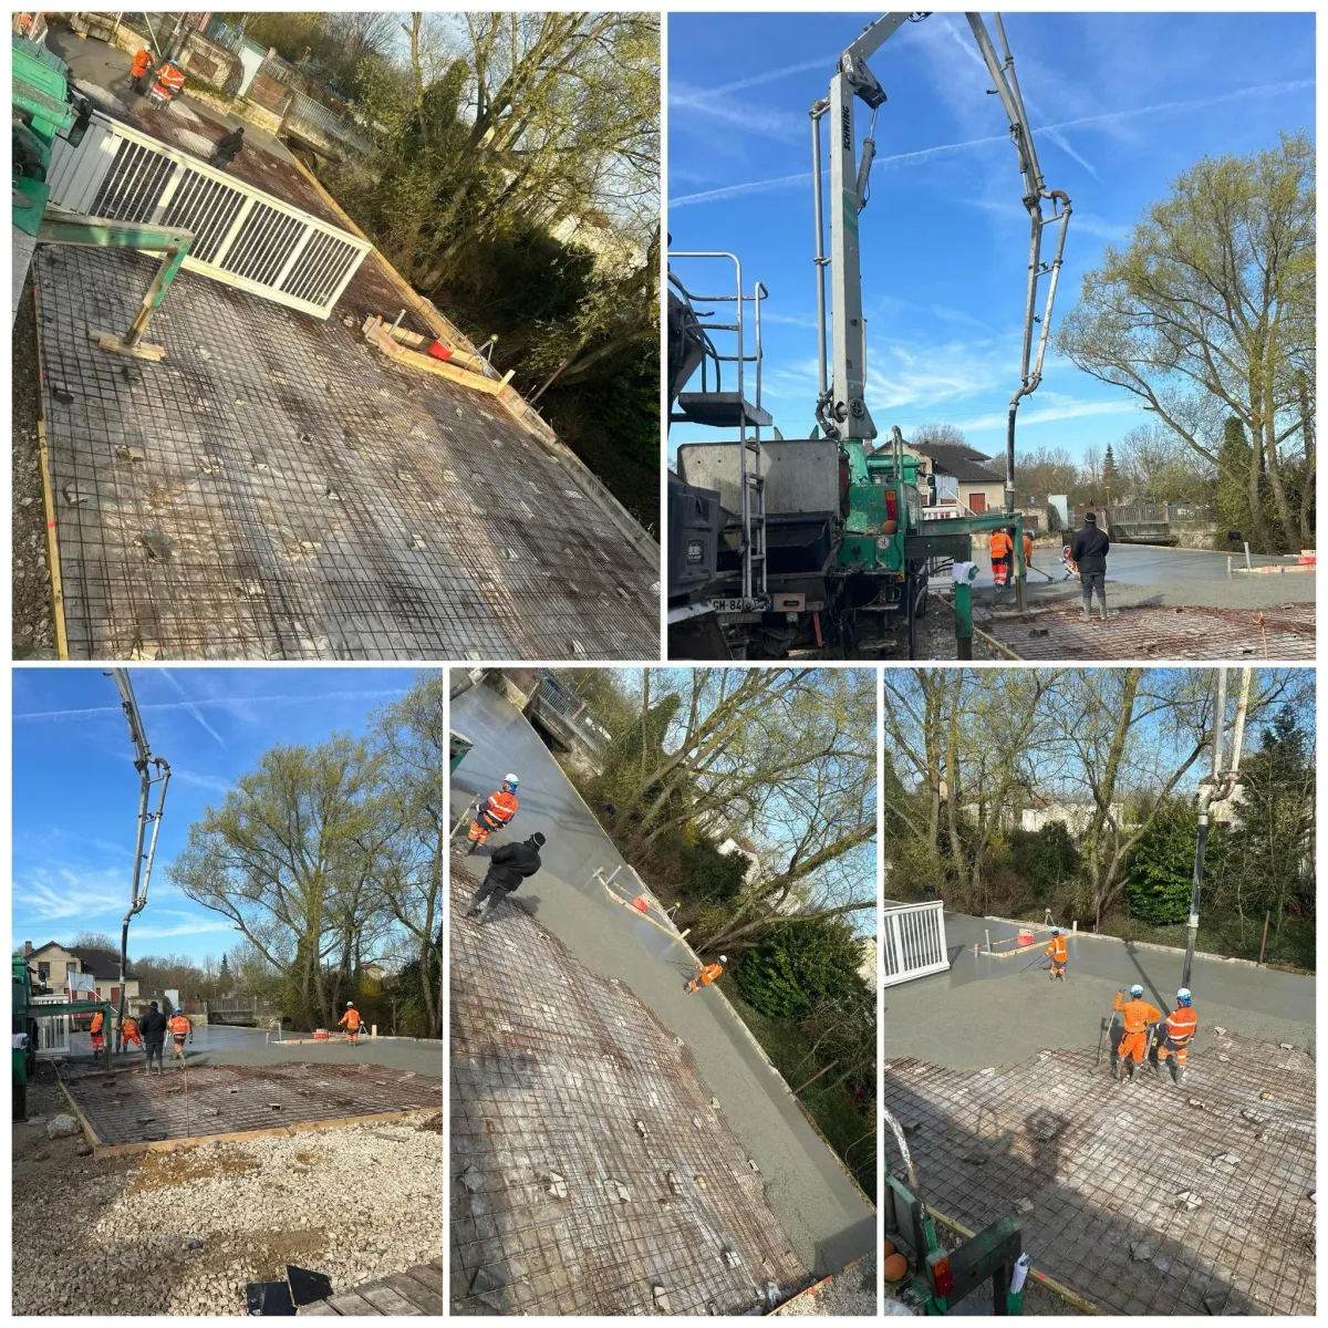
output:
<path id="1" fill-rule="evenodd" d="M 98 216 L 60 212 L 49 206 L 48 177 L 57 139 L 77 147 L 92 121 L 93 108 L 73 85 L 69 66 L 27 37 L 13 39 L 13 315 L 37 244 L 81 248 L 133 248 L 161 254 L 161 266 L 142 304 L 122 336 L 89 328 L 101 349 L 139 360 L 161 360 L 161 345 L 143 340 L 153 315 L 183 267 L 194 243 L 191 231 L 178 226 L 112 222 Z"/>

